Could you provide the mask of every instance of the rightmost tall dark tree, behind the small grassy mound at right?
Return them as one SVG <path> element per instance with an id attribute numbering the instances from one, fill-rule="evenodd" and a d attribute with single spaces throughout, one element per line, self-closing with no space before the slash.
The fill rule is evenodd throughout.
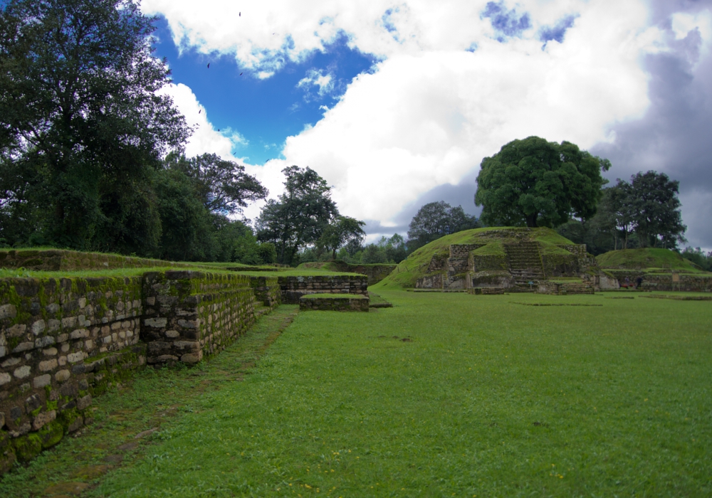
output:
<path id="1" fill-rule="evenodd" d="M 683 234 L 687 227 L 682 223 L 677 197 L 679 186 L 679 181 L 656 171 L 631 176 L 631 208 L 641 247 L 676 248 L 678 242 L 686 240 Z"/>

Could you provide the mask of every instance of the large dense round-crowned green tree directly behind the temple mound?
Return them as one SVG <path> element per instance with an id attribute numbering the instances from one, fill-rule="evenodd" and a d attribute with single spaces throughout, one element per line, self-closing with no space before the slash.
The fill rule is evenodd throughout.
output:
<path id="1" fill-rule="evenodd" d="M 596 213 L 610 163 L 570 142 L 539 137 L 513 140 L 486 157 L 475 204 L 489 226 L 559 226 Z"/>

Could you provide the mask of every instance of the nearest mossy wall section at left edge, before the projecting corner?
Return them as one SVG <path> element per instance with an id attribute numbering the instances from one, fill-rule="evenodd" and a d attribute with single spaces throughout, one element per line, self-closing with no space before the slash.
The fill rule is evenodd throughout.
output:
<path id="1" fill-rule="evenodd" d="M 145 364 L 141 277 L 0 280 L 0 472 L 90 421 Z"/>

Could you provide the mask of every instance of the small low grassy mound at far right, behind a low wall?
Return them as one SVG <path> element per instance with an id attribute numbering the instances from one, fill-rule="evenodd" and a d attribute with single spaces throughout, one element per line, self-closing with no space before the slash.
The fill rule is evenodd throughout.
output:
<path id="1" fill-rule="evenodd" d="M 690 260 L 669 249 L 612 250 L 596 257 L 605 270 L 679 270 L 696 273 L 702 271 Z"/>

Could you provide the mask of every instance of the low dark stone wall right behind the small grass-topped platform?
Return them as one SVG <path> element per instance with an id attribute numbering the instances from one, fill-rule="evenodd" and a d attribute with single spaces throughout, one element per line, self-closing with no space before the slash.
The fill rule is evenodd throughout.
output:
<path id="1" fill-rule="evenodd" d="M 366 275 L 318 275 L 311 277 L 277 277 L 282 302 L 299 304 L 307 294 L 360 294 L 368 297 Z"/>

